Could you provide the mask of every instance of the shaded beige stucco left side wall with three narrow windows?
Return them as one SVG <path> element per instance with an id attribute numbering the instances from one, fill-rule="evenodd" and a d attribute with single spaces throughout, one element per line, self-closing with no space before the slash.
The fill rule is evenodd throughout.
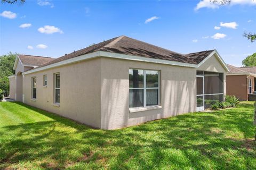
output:
<path id="1" fill-rule="evenodd" d="M 60 106 L 53 106 L 54 73 L 60 73 Z M 43 75 L 47 74 L 47 87 Z M 37 78 L 37 99 L 31 100 L 31 78 Z M 100 58 L 65 65 L 23 78 L 25 103 L 100 128 Z"/>

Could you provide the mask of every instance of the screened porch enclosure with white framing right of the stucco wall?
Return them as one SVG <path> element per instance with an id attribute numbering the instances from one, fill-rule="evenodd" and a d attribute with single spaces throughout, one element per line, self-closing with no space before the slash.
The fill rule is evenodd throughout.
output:
<path id="1" fill-rule="evenodd" d="M 223 73 L 196 72 L 197 111 L 203 111 L 223 101 Z"/>

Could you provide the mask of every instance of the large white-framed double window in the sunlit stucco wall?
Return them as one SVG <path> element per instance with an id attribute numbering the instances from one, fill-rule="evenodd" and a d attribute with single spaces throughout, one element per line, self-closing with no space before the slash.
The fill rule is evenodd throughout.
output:
<path id="1" fill-rule="evenodd" d="M 129 69 L 129 107 L 159 105 L 159 71 Z"/>

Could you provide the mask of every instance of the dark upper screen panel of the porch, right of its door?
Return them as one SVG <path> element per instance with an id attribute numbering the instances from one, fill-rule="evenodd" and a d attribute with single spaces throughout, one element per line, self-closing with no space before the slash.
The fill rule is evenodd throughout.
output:
<path id="1" fill-rule="evenodd" d="M 204 72 L 204 94 L 223 93 L 223 74 Z"/>

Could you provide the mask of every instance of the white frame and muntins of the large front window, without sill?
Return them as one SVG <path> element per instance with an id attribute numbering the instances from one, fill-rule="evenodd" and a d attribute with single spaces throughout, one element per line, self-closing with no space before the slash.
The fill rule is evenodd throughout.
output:
<path id="1" fill-rule="evenodd" d="M 133 69 L 129 68 L 129 70 L 143 70 L 143 88 L 130 88 L 129 84 L 129 91 L 130 90 L 136 90 L 136 89 L 142 89 L 143 90 L 143 106 L 141 107 L 151 107 L 151 106 L 159 106 L 160 105 L 160 71 L 159 70 L 145 70 L 145 69 Z M 146 87 L 146 72 L 147 71 L 157 71 L 158 72 L 158 87 Z M 130 82 L 129 82 L 130 83 Z M 151 105 L 147 106 L 147 89 L 158 89 L 158 104 L 157 105 Z M 130 99 L 129 99 L 130 101 Z M 139 108 L 139 107 L 129 107 L 129 108 Z"/>

